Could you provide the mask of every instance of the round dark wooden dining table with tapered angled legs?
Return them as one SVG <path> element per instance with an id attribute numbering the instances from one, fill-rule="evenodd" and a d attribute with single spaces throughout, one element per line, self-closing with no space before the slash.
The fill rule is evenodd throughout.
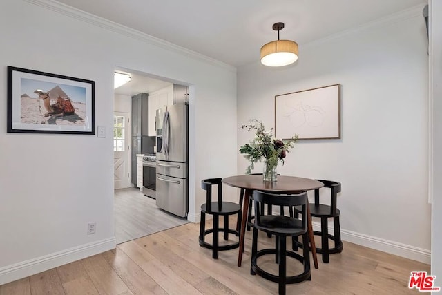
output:
<path id="1" fill-rule="evenodd" d="M 253 195 L 253 191 L 269 191 L 273 193 L 278 192 L 301 192 L 310 191 L 312 189 L 319 189 L 323 187 L 323 182 L 309 178 L 299 178 L 295 176 L 278 175 L 276 182 L 264 182 L 262 175 L 236 175 L 228 178 L 223 178 L 222 182 L 231 186 L 245 189 L 244 200 L 242 202 L 242 221 L 240 230 L 240 249 L 238 253 L 238 267 L 241 266 L 242 252 L 244 252 L 244 235 L 247 225 L 247 213 L 249 212 L 249 200 Z M 307 224 L 309 231 L 309 240 L 311 245 L 311 254 L 314 260 L 314 266 L 318 268 L 318 258 L 316 258 L 316 245 L 314 240 L 313 228 L 311 227 L 310 208 L 307 206 Z"/>

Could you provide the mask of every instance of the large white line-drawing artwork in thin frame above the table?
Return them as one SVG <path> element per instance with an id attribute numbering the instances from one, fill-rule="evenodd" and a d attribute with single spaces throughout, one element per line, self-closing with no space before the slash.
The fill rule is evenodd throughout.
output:
<path id="1" fill-rule="evenodd" d="M 340 138 L 340 84 L 275 96 L 275 136 Z"/>

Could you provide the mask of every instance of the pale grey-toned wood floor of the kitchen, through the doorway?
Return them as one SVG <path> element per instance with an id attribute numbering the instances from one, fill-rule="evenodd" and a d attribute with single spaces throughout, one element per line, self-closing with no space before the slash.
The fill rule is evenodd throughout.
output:
<path id="1" fill-rule="evenodd" d="M 117 244 L 188 222 L 186 218 L 162 211 L 154 199 L 134 187 L 115 190 L 114 213 Z"/>

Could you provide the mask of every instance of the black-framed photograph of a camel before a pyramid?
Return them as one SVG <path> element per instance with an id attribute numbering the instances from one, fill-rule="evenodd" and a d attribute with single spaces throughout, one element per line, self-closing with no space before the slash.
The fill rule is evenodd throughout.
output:
<path id="1" fill-rule="evenodd" d="M 8 66 L 8 133 L 95 135 L 95 82 Z"/>

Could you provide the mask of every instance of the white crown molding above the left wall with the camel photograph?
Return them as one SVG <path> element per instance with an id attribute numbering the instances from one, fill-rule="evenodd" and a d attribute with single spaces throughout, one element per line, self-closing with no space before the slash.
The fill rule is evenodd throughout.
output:
<path id="1" fill-rule="evenodd" d="M 214 66 L 218 66 L 220 68 L 224 68 L 230 70 L 233 73 L 236 73 L 236 67 L 226 64 L 218 59 L 213 59 L 211 57 L 207 57 L 206 55 L 202 55 L 201 53 L 197 53 L 193 50 L 184 48 L 182 46 L 177 46 L 168 41 L 164 41 L 163 39 L 153 37 L 151 35 L 145 34 L 144 32 L 140 32 L 139 30 L 135 30 L 133 28 L 129 28 L 123 26 L 119 23 L 115 23 L 113 21 L 109 21 L 108 19 L 104 19 L 97 15 L 93 15 L 91 13 L 85 12 L 83 10 L 79 10 L 72 6 L 68 6 L 64 3 L 60 3 L 55 0 L 24 0 L 28 3 L 35 4 L 37 6 L 41 6 L 42 8 L 46 8 L 48 10 L 52 10 L 60 13 L 61 15 L 66 15 L 67 17 L 72 17 L 73 19 L 77 19 L 79 21 L 84 21 L 86 23 L 90 23 L 94 26 L 98 26 L 100 28 L 104 28 L 111 32 L 116 32 L 117 34 L 124 35 L 126 37 L 131 37 L 133 39 L 137 39 L 138 41 L 146 42 L 153 46 L 157 46 L 160 48 L 164 48 L 166 50 L 171 50 L 175 53 L 180 53 L 182 55 L 186 55 L 187 57 L 191 57 L 193 59 L 198 59 L 200 61 L 204 61 L 206 63 L 212 64 Z"/>

